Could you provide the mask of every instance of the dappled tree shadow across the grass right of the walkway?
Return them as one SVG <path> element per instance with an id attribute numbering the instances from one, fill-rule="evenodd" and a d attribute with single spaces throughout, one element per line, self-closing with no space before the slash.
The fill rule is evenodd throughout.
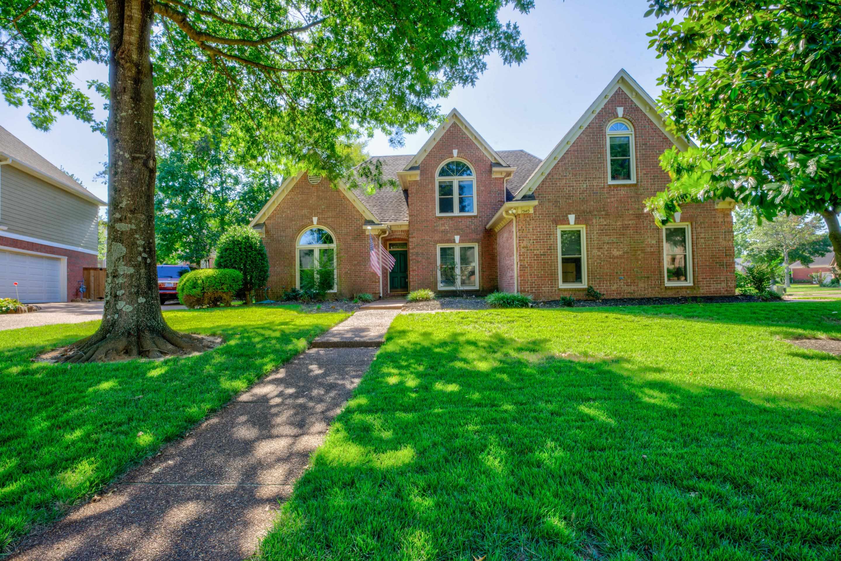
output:
<path id="1" fill-rule="evenodd" d="M 550 342 L 393 327 L 262 558 L 841 553 L 837 407 L 760 405 Z"/>

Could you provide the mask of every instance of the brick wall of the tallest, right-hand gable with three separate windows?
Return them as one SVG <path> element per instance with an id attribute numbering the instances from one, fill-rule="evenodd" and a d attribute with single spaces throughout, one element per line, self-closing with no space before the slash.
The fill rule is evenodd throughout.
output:
<path id="1" fill-rule="evenodd" d="M 616 108 L 634 128 L 637 177 L 607 183 L 606 126 Z M 672 142 L 621 89 L 574 140 L 534 194 L 534 214 L 517 219 L 520 284 L 535 299 L 584 297 L 584 288 L 558 288 L 558 225 L 586 225 L 587 282 L 606 298 L 734 294 L 733 221 L 712 202 L 687 204 L 682 222 L 692 228 L 694 286 L 666 287 L 663 231 L 643 212 L 643 200 L 662 191 L 669 177 L 659 156 Z"/>

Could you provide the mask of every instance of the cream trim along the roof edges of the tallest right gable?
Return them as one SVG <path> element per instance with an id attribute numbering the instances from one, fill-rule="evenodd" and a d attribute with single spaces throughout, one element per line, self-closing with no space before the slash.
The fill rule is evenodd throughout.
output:
<path id="1" fill-rule="evenodd" d="M 601 108 L 605 107 L 608 100 L 618 89 L 627 93 L 627 96 L 632 99 L 633 103 L 636 103 L 637 107 L 642 109 L 643 113 L 648 115 L 648 118 L 657 125 L 659 130 L 663 131 L 663 134 L 672 141 L 674 146 L 677 146 L 681 151 L 685 151 L 689 148 L 689 146 L 694 146 L 694 143 L 692 143 L 691 140 L 675 136 L 669 132 L 669 130 L 666 130 L 664 115 L 660 111 L 657 103 L 650 95 L 648 95 L 648 93 L 646 93 L 643 87 L 641 87 L 637 81 L 634 80 L 624 68 L 622 68 L 620 71 L 616 72 L 616 76 L 614 76 L 611 82 L 607 84 L 607 87 L 602 90 L 599 97 L 595 98 L 595 101 L 590 104 L 590 107 L 584 111 L 584 114 L 581 115 L 578 121 L 575 122 L 567 134 L 563 135 L 563 138 L 560 142 L 558 142 L 558 145 L 549 152 L 546 159 L 542 161 L 541 165 L 538 166 L 532 175 L 526 180 L 526 183 L 523 184 L 520 192 L 517 193 L 514 200 L 523 198 L 526 194 L 534 193 L 534 190 L 543 180 L 543 177 L 546 177 L 547 173 L 552 171 L 555 164 L 557 164 L 558 160 L 561 159 L 561 156 L 569 150 L 569 146 L 572 146 L 573 142 L 579 137 L 579 135 L 581 135 L 584 129 L 587 128 L 587 125 L 595 118 L 595 115 L 599 114 Z"/>

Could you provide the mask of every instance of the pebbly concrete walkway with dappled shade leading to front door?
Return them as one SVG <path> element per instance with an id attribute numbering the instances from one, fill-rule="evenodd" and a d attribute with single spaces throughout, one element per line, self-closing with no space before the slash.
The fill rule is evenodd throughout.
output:
<path id="1" fill-rule="evenodd" d="M 251 556 L 398 314 L 358 311 L 10 559 Z"/>

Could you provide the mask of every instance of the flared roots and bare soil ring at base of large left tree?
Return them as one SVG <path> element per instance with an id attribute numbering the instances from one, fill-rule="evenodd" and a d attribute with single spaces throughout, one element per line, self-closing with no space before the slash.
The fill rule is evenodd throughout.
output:
<path id="1" fill-rule="evenodd" d="M 108 363 L 135 357 L 161 358 L 203 352 L 212 347 L 214 344 L 211 341 L 169 328 L 158 332 L 144 331 L 137 335 L 94 334 L 67 347 L 56 357 L 56 361 L 72 364 Z"/>

